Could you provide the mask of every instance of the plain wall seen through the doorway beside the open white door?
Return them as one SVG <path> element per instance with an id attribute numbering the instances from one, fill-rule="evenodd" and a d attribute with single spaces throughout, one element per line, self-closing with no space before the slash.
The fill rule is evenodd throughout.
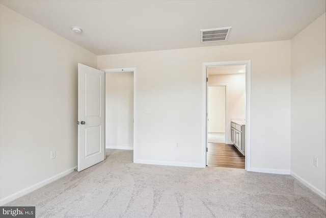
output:
<path id="1" fill-rule="evenodd" d="M 133 72 L 105 74 L 105 146 L 133 149 Z"/>

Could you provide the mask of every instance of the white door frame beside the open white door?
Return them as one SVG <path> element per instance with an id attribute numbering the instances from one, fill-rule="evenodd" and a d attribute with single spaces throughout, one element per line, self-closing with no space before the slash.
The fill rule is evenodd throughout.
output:
<path id="1" fill-rule="evenodd" d="M 135 67 L 128 67 L 128 68 L 111 68 L 111 69 L 101 69 L 102 71 L 105 72 L 105 75 L 107 73 L 112 73 L 112 72 L 133 72 L 133 162 L 137 160 L 136 154 L 137 154 L 137 147 L 135 143 L 135 138 L 136 138 L 136 68 Z M 105 83 L 106 85 L 106 83 Z M 106 108 L 105 108 L 106 111 Z"/>

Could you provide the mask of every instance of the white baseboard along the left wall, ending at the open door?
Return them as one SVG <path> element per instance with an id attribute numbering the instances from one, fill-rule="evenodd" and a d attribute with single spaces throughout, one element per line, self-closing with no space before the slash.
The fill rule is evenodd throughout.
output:
<path id="1" fill-rule="evenodd" d="M 21 196 L 24 196 L 24 195 L 26 195 L 26 194 L 28 194 L 28 193 L 30 193 L 32 191 L 35 191 L 36 189 L 38 189 L 40 187 L 43 187 L 43 186 L 45 186 L 45 185 L 47 185 L 47 184 L 49 184 L 49 183 L 51 183 L 53 181 L 56 181 L 56 180 L 58 180 L 58 179 L 60 179 L 60 178 L 62 178 L 64 176 L 67 176 L 68 174 L 72 173 L 76 167 L 77 166 L 72 167 L 70 169 L 67 169 L 66 171 L 64 171 L 64 172 L 62 172 L 60 174 L 57 174 L 56 176 L 52 176 L 52 177 L 50 177 L 48 179 L 45 179 L 45 180 L 43 180 L 41 182 L 38 182 L 38 183 L 32 185 L 30 187 L 27 187 L 27 188 L 24 188 L 24 189 L 22 189 L 20 191 L 17 191 L 16 193 L 13 193 L 10 196 L 7 196 L 7 197 L 5 197 L 3 199 L 0 199 L 0 206 L 5 205 L 5 204 L 7 204 L 7 203 L 9 203 L 9 202 L 11 202 L 13 200 L 16 200 L 17 198 L 20 198 Z"/>

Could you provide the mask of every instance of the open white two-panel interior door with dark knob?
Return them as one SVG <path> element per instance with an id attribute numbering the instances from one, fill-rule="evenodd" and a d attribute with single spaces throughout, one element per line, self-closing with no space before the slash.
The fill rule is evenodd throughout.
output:
<path id="1" fill-rule="evenodd" d="M 78 64 L 78 172 L 105 158 L 104 72 Z"/>

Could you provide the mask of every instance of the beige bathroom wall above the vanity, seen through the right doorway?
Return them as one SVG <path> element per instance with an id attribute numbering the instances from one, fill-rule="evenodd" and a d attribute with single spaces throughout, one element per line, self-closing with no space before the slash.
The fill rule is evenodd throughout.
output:
<path id="1" fill-rule="evenodd" d="M 246 74 L 209 75 L 208 85 L 228 85 L 226 143 L 231 141 L 231 118 L 245 118 Z"/>

